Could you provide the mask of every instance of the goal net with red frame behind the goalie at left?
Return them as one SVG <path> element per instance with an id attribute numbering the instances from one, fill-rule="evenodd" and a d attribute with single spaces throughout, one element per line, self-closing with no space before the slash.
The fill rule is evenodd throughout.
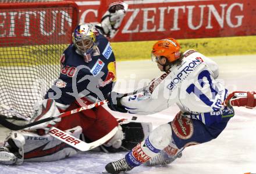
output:
<path id="1" fill-rule="evenodd" d="M 11 3 L 10 3 L 11 2 Z M 58 79 L 63 50 L 72 42 L 74 2 L 0 3 L 0 102 L 23 115 Z M 13 114 L 0 108 L 0 114 Z"/>

